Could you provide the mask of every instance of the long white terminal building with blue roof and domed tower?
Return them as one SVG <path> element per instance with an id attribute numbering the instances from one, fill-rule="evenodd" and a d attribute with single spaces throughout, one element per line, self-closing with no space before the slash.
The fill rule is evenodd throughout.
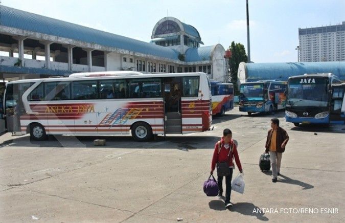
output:
<path id="1" fill-rule="evenodd" d="M 165 17 L 144 42 L 6 6 L 0 7 L 0 78 L 67 76 L 77 72 L 204 72 L 227 81 L 221 44 L 201 46 L 196 28 Z"/>

